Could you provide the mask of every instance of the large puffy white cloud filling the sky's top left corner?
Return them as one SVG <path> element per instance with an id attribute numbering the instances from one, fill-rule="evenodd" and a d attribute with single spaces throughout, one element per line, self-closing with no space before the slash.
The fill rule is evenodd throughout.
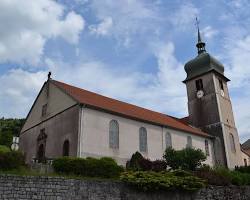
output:
<path id="1" fill-rule="evenodd" d="M 49 38 L 76 44 L 84 28 L 80 15 L 53 0 L 1 0 L 0 24 L 1 63 L 37 64 Z"/>

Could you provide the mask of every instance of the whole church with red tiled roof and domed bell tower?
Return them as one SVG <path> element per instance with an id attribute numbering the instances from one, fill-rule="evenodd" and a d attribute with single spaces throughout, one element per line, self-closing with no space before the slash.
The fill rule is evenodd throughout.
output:
<path id="1" fill-rule="evenodd" d="M 205 50 L 185 64 L 189 116 L 179 119 L 51 79 L 20 133 L 26 162 L 61 156 L 112 157 L 125 165 L 136 151 L 162 159 L 167 147 L 201 149 L 205 164 L 250 165 L 241 150 L 224 66 Z"/>

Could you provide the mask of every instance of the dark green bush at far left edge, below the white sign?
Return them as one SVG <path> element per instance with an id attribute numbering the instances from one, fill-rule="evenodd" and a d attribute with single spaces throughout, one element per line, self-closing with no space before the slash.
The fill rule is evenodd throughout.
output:
<path id="1" fill-rule="evenodd" d="M 21 152 L 0 152 L 0 170 L 18 169 L 24 165 L 24 156 Z"/>

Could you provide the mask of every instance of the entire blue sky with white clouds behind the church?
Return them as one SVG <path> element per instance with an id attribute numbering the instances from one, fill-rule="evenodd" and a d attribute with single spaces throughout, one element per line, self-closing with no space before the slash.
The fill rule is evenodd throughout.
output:
<path id="1" fill-rule="evenodd" d="M 225 66 L 241 141 L 250 137 L 248 0 L 1 0 L 0 117 L 26 117 L 52 78 L 176 117 L 184 64 L 207 51 Z"/>

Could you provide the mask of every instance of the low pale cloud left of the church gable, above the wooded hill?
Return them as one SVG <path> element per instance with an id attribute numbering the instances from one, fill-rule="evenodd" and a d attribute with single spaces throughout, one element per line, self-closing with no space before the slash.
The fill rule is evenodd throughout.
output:
<path id="1" fill-rule="evenodd" d="M 10 70 L 0 76 L 0 115 L 25 117 L 38 94 L 46 72 Z"/>

